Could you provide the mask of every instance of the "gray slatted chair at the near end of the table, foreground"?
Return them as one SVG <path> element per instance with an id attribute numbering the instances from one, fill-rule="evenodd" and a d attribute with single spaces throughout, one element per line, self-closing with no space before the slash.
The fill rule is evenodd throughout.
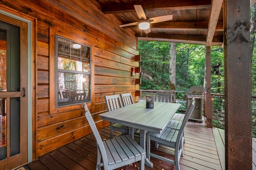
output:
<path id="1" fill-rule="evenodd" d="M 138 161 L 140 161 L 140 169 L 144 169 L 146 153 L 143 148 L 130 135 L 102 141 L 86 103 L 83 103 L 83 108 L 85 109 L 85 117 L 96 138 L 96 169 L 99 170 L 102 166 L 104 169 L 116 169 Z"/>

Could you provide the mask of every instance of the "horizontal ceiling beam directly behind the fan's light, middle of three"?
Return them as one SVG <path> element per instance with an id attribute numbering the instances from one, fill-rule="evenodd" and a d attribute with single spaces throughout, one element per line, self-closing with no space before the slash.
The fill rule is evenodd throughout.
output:
<path id="1" fill-rule="evenodd" d="M 132 25 L 124 28 L 138 28 L 138 27 L 139 27 L 138 25 Z M 199 31 L 199 30 L 207 30 L 208 22 L 161 22 L 161 23 L 150 24 L 150 28 Z M 222 22 L 217 23 L 215 31 L 223 31 Z"/>

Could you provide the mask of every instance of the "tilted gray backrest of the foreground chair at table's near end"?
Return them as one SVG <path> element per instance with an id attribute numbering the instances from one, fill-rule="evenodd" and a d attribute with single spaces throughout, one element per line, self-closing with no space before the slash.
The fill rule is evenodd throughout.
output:
<path id="1" fill-rule="evenodd" d="M 100 154 L 102 155 L 103 163 L 107 163 L 108 162 L 107 153 L 106 153 L 105 147 L 103 145 L 102 138 L 99 135 L 99 131 L 96 128 L 93 117 L 91 117 L 91 113 L 90 113 L 86 103 L 83 103 L 83 108 L 85 109 L 85 117 L 86 117 L 86 119 L 91 127 L 91 130 L 93 131 L 93 134 L 96 138 L 96 142 L 97 142 Z"/>

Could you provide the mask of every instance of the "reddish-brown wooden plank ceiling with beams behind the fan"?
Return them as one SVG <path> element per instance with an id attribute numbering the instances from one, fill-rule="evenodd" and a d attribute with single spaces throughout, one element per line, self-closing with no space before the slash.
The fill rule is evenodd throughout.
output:
<path id="1" fill-rule="evenodd" d="M 191 44 L 223 44 L 223 0 L 98 0 L 102 12 L 112 15 L 117 23 L 139 22 L 134 5 L 141 5 L 147 18 L 173 15 L 166 22 L 150 24 L 146 34 L 138 25 L 123 27 L 135 32 L 139 40 L 184 42 Z"/>

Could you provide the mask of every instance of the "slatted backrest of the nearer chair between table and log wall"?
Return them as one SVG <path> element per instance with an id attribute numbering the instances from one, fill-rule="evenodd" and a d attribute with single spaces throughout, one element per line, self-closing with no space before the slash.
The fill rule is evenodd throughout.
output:
<path id="1" fill-rule="evenodd" d="M 122 107 L 119 95 L 105 96 L 107 111 L 114 111 Z"/>

